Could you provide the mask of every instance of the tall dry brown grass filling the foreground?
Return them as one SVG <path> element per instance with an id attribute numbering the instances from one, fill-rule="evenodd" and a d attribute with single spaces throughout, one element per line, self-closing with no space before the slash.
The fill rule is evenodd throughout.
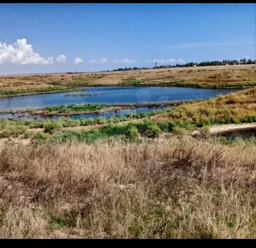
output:
<path id="1" fill-rule="evenodd" d="M 0 148 L 0 238 L 256 238 L 255 146 Z"/>

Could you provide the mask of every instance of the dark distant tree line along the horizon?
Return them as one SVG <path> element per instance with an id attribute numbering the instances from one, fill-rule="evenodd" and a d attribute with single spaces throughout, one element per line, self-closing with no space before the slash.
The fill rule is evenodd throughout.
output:
<path id="1" fill-rule="evenodd" d="M 223 66 L 223 65 L 250 65 L 250 64 L 256 64 L 256 60 L 251 60 L 250 58 L 247 60 L 246 58 L 241 58 L 240 60 L 237 59 L 223 59 L 222 61 L 214 60 L 214 61 L 203 61 L 201 63 L 186 63 L 186 64 L 176 64 L 175 66 L 170 65 L 162 65 L 157 67 L 125 67 L 125 68 L 118 68 L 114 69 L 112 71 L 129 71 L 129 70 L 146 70 L 151 68 L 175 68 L 175 67 L 195 67 L 195 66 Z M 107 71 L 100 71 L 100 72 L 108 72 Z M 79 74 L 79 73 L 86 73 L 86 72 L 67 72 L 67 74 Z"/>

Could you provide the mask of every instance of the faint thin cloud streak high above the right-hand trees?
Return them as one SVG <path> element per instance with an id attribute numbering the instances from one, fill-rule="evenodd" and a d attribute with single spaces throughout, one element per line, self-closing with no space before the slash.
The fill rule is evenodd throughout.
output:
<path id="1" fill-rule="evenodd" d="M 203 47 L 222 47 L 230 45 L 242 45 L 242 44 L 254 44 L 255 41 L 232 41 L 232 42 L 194 42 L 194 43 L 184 43 L 176 44 L 165 47 L 167 50 L 176 50 L 176 49 L 186 49 L 186 48 L 203 48 Z"/>

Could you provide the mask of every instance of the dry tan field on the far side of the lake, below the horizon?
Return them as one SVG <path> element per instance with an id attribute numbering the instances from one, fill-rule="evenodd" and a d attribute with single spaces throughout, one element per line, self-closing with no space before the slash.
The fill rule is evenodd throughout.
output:
<path id="1" fill-rule="evenodd" d="M 219 66 L 195 68 L 169 68 L 139 71 L 95 72 L 85 74 L 37 74 L 0 77 L 0 90 L 18 90 L 49 87 L 48 83 L 58 82 L 68 85 L 75 81 L 88 80 L 88 86 L 97 84 L 117 85 L 122 79 L 135 78 L 145 84 L 160 84 L 170 81 L 221 86 L 224 84 L 255 83 L 255 65 Z"/>

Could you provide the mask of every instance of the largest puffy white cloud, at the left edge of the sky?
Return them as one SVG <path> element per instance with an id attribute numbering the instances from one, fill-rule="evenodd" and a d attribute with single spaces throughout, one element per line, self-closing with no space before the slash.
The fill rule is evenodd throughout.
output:
<path id="1" fill-rule="evenodd" d="M 27 44 L 27 40 L 17 39 L 12 45 L 6 45 L 6 43 L 0 42 L 0 65 L 4 63 L 12 63 L 19 65 L 28 64 L 53 64 L 53 57 L 47 59 L 41 57 L 38 53 L 35 53 L 32 45 Z"/>

